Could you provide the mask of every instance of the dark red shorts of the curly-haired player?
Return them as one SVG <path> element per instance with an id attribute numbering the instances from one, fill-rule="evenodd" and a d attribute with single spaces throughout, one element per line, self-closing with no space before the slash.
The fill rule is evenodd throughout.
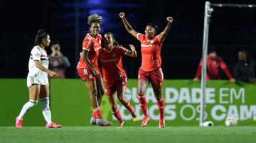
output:
<path id="1" fill-rule="evenodd" d="M 92 69 L 77 69 L 78 70 L 78 76 L 80 76 L 80 79 L 82 81 L 96 81 L 96 78 L 102 78 L 102 74 L 100 73 L 100 69 L 96 68 L 96 70 L 99 72 L 97 76 L 93 74 Z"/>

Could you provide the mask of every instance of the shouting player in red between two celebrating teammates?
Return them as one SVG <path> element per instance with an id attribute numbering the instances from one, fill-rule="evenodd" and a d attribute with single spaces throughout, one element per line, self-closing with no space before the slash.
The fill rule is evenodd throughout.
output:
<path id="1" fill-rule="evenodd" d="M 132 105 L 124 97 L 127 88 L 127 75 L 122 67 L 122 56 L 137 57 L 135 47 L 133 45 L 129 46 L 132 51 L 119 45 L 114 35 L 108 32 L 104 35 L 104 48 L 102 48 L 99 54 L 107 98 L 110 102 L 112 114 L 119 121 L 117 128 L 122 128 L 124 125 L 124 120 L 117 106 L 117 98 L 129 110 L 134 122 L 137 122 L 139 119 Z"/>

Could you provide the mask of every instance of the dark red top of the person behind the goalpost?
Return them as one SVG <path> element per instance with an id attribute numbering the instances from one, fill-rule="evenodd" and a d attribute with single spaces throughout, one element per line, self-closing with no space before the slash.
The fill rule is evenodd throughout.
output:
<path id="1" fill-rule="evenodd" d="M 198 69 L 196 71 L 196 77 L 199 79 L 199 76 L 201 75 L 201 68 L 203 65 L 203 59 L 201 59 L 200 64 L 198 66 Z M 216 56 L 215 59 L 210 59 L 210 56 L 207 56 L 207 70 L 206 70 L 206 79 L 221 79 L 220 77 L 220 68 L 225 71 L 225 74 L 227 74 L 229 79 L 233 79 L 233 76 L 230 74 L 230 71 L 220 57 Z"/>

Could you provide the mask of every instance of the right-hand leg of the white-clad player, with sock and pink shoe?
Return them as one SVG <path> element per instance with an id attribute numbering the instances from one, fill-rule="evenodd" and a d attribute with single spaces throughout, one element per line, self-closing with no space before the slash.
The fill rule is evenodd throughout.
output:
<path id="1" fill-rule="evenodd" d="M 51 112 L 50 112 L 50 99 L 49 99 L 49 84 L 42 85 L 39 98 L 41 99 L 41 109 L 43 113 L 43 117 L 45 118 L 47 124 L 46 127 L 53 127 L 58 128 L 61 127 L 61 125 L 55 124 L 55 122 L 52 122 L 51 119 Z"/>

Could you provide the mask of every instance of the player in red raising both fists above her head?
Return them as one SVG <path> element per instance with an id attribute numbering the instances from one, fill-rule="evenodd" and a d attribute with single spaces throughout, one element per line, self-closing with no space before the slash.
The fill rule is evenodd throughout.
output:
<path id="1" fill-rule="evenodd" d="M 146 88 L 149 86 L 149 83 L 151 83 L 154 90 L 156 103 L 159 108 L 159 127 L 165 127 L 164 98 L 162 96 L 162 84 L 164 75 L 161 69 L 161 48 L 164 39 L 166 38 L 166 35 L 171 28 L 173 18 L 170 16 L 167 17 L 166 28 L 164 28 L 164 30 L 159 35 L 156 35 L 156 32 L 158 30 L 158 27 L 156 25 L 148 23 L 146 25 L 145 34 L 142 34 L 138 33 L 132 28 L 131 25 L 129 25 L 123 12 L 119 13 L 119 16 L 120 18 L 122 18 L 122 22 L 124 23 L 124 26 L 128 33 L 133 35 L 141 42 L 142 67 L 139 68 L 138 73 L 139 105 L 142 109 L 142 113 L 144 114 L 141 126 L 145 127 L 150 120 L 147 113 L 145 92 Z"/>

